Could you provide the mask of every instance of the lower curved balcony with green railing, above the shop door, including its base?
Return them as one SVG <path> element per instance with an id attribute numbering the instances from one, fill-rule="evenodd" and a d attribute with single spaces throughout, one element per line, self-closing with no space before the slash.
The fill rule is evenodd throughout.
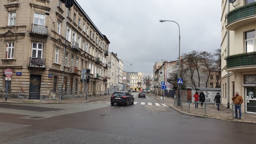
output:
<path id="1" fill-rule="evenodd" d="M 224 60 L 227 61 L 226 71 L 255 69 L 256 52 L 234 54 L 224 57 Z"/>

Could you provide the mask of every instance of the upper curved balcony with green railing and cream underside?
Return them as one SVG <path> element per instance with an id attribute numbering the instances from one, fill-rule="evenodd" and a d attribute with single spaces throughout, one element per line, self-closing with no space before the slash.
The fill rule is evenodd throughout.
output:
<path id="1" fill-rule="evenodd" d="M 246 23 L 256 21 L 256 2 L 242 5 L 226 14 L 227 30 L 235 30 Z"/>

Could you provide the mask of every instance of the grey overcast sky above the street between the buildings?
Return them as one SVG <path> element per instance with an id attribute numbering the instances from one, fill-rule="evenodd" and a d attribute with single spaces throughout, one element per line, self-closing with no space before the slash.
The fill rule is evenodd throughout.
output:
<path id="1" fill-rule="evenodd" d="M 220 0 L 76 0 L 111 42 L 126 72 L 153 73 L 155 62 L 181 54 L 214 52 L 221 45 Z M 132 66 L 130 64 L 132 63 Z M 136 68 L 135 68 L 136 67 Z"/>

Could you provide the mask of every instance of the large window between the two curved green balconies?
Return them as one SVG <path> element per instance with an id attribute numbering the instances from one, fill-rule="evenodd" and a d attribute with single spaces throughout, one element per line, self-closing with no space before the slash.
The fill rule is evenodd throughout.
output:
<path id="1" fill-rule="evenodd" d="M 247 53 L 255 51 L 255 31 L 245 32 L 245 48 Z"/>

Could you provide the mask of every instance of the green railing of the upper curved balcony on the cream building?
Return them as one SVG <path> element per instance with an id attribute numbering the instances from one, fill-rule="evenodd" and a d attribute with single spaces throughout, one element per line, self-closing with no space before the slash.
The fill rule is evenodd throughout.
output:
<path id="1" fill-rule="evenodd" d="M 256 2 L 252 2 L 247 5 L 242 5 L 238 8 L 233 9 L 226 14 L 227 24 L 232 23 L 233 21 L 256 15 Z"/>

